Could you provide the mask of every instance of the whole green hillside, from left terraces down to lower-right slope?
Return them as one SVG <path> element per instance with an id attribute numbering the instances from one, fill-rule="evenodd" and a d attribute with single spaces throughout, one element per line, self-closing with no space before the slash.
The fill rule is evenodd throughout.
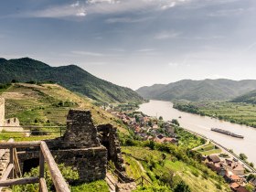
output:
<path id="1" fill-rule="evenodd" d="M 118 128 L 121 144 L 125 144 L 122 146 L 122 151 L 126 153 L 124 163 L 128 176 L 133 178 L 146 176 L 152 181 L 153 187 L 170 185 L 168 178 L 174 174 L 176 177 L 173 181 L 176 184 L 185 181 L 192 192 L 198 189 L 219 191 L 219 188 L 222 191 L 229 191 L 229 187 L 220 176 L 200 164 L 199 161 L 195 161 L 193 156 L 188 156 L 188 149 L 183 148 L 182 145 L 171 144 L 166 147 L 159 145 L 158 148 L 155 147 L 155 150 L 151 150 L 148 148 L 149 143 L 137 141 L 133 133 L 128 131 L 127 127 L 111 113 L 93 105 L 91 99 L 71 92 L 58 84 L 13 83 L 1 89 L 0 96 L 5 98 L 6 118 L 18 117 L 23 125 L 63 125 L 66 123 L 66 115 L 70 108 L 91 110 L 95 124 L 112 123 Z M 3 132 L 0 140 L 14 137 L 16 141 L 34 141 L 58 136 L 59 133 L 51 133 L 50 135 L 24 137 L 22 133 Z M 198 139 L 194 136 L 192 138 Z M 144 145 L 138 147 L 129 145 L 137 143 Z"/>

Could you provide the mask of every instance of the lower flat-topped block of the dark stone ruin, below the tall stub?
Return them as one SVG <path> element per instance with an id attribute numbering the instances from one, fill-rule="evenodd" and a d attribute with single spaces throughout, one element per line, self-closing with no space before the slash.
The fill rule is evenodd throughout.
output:
<path id="1" fill-rule="evenodd" d="M 71 166 L 80 176 L 79 182 L 91 182 L 104 179 L 106 176 L 107 152 L 105 147 L 91 147 L 84 149 L 50 150 L 58 164 Z M 27 159 L 39 158 L 39 151 L 18 153 L 18 159 L 23 172 Z"/>

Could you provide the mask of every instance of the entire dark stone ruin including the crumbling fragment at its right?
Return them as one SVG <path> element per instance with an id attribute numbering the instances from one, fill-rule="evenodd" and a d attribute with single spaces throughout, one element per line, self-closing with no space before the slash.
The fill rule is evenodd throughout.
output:
<path id="1" fill-rule="evenodd" d="M 111 124 L 95 127 L 90 111 L 70 110 L 66 133 L 45 142 L 58 164 L 78 170 L 79 182 L 104 179 L 108 160 L 112 160 L 120 171 L 124 170 L 116 128 Z M 18 152 L 23 173 L 38 165 L 38 155 L 37 148 Z"/>

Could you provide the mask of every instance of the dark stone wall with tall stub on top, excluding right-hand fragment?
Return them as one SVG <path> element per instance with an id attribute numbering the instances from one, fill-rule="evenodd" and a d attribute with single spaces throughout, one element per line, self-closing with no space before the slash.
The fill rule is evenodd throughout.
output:
<path id="1" fill-rule="evenodd" d="M 45 142 L 58 164 L 64 163 L 78 170 L 79 182 L 105 178 L 107 149 L 100 144 L 91 112 L 70 110 L 64 136 Z M 38 155 L 39 151 L 35 148 L 20 151 L 18 158 L 21 169 L 26 160 L 38 158 Z"/>

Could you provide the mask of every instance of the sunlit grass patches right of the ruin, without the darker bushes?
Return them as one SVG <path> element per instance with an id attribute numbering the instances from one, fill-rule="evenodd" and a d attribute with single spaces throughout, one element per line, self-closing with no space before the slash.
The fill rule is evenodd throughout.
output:
<path id="1" fill-rule="evenodd" d="M 148 159 L 153 159 L 155 162 L 160 162 L 163 160 L 162 152 L 150 150 L 145 147 L 125 146 L 122 148 L 122 150 L 126 154 L 133 155 L 133 157 L 135 157 L 137 160 L 144 159 L 148 161 Z M 126 166 L 128 166 L 129 169 L 132 170 L 128 172 L 128 174 L 133 178 L 138 178 L 139 176 L 144 175 L 144 172 L 139 169 L 139 166 L 131 164 L 131 160 L 127 162 L 127 159 L 133 159 L 133 162 L 135 162 L 136 159 L 133 157 L 125 156 Z M 206 178 L 206 176 L 204 176 L 204 173 L 198 170 L 193 165 L 187 165 L 186 163 L 182 161 L 177 161 L 175 159 L 176 157 L 173 157 L 172 155 L 166 155 L 164 165 L 156 163 L 155 168 L 153 168 L 152 171 L 150 170 L 147 163 L 145 163 L 144 161 L 140 161 L 140 163 L 144 166 L 146 173 L 150 176 L 153 183 L 157 182 L 157 178 L 155 178 L 155 176 L 159 176 L 166 170 L 170 170 L 173 171 L 175 175 L 180 176 L 191 188 L 192 192 L 230 191 L 227 185 L 220 184 L 219 181 L 213 178 Z M 222 188 L 218 189 L 218 186 L 221 186 Z"/>

